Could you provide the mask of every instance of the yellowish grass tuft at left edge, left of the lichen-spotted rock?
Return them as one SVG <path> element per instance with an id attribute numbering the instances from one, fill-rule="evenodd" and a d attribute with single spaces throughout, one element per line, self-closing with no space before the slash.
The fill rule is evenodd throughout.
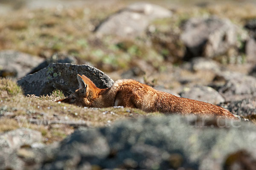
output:
<path id="1" fill-rule="evenodd" d="M 0 92 L 7 91 L 9 95 L 22 94 L 20 86 L 13 82 L 11 79 L 0 79 Z"/>

